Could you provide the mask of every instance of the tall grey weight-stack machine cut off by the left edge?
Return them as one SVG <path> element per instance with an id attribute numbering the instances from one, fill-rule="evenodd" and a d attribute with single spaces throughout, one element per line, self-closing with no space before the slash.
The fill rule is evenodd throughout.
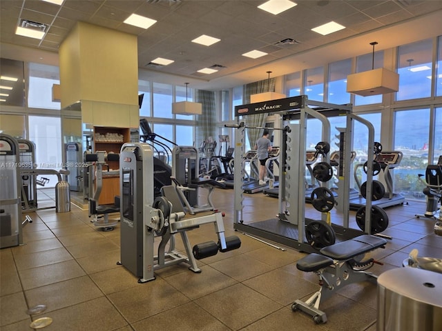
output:
<path id="1" fill-rule="evenodd" d="M 0 248 L 23 244 L 23 226 L 32 223 L 26 215 L 21 221 L 21 174 L 19 143 L 0 133 Z"/>

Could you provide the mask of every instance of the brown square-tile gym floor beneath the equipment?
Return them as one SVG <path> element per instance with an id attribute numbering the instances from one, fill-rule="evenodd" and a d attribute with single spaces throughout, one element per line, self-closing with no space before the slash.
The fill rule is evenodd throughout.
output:
<path id="1" fill-rule="evenodd" d="M 51 191 L 41 192 L 50 198 Z M 241 248 L 198 261 L 200 274 L 175 265 L 144 284 L 116 264 L 119 225 L 111 232 L 97 230 L 87 210 L 74 205 L 66 213 L 50 208 L 30 214 L 25 244 L 0 250 L 0 329 L 31 330 L 33 320 L 50 317 L 53 322 L 44 330 L 376 330 L 376 286 L 371 283 L 349 285 L 321 303 L 326 324 L 292 312 L 294 300 L 318 289 L 315 274 L 296 269 L 305 254 L 234 232 L 231 190 L 217 190 L 213 201 L 226 213 L 226 234 L 238 235 Z M 277 199 L 263 194 L 245 195 L 244 205 L 244 219 L 263 220 L 277 212 Z M 387 208 L 390 226 L 384 233 L 393 240 L 374 252 L 384 265 L 370 271 L 400 268 L 412 248 L 422 256 L 442 257 L 434 221 L 414 218 L 424 210 L 424 203 L 414 201 Z M 316 211 L 307 205 L 307 212 Z M 192 245 L 215 240 L 213 225 L 189 231 L 189 239 Z M 26 314 L 41 304 L 46 311 Z"/>

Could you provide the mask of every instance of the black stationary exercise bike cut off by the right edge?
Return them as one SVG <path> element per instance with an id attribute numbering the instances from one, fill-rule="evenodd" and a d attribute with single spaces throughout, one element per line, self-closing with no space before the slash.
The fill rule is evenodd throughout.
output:
<path id="1" fill-rule="evenodd" d="M 416 214 L 416 218 L 427 217 L 436 219 L 434 233 L 442 236 L 442 212 L 440 203 L 442 202 L 442 155 L 436 165 L 427 165 L 425 174 L 418 174 L 425 188 L 423 194 L 426 196 L 427 208 L 425 214 Z M 425 180 L 422 178 L 425 177 Z"/>

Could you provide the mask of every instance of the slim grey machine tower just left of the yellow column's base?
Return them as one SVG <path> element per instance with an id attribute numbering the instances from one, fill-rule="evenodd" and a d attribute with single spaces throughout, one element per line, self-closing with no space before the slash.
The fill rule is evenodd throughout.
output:
<path id="1" fill-rule="evenodd" d="M 81 180 L 83 177 L 83 167 L 79 166 L 83 162 L 83 156 L 81 154 L 81 145 L 79 143 L 65 143 L 64 145 L 64 157 L 66 160 L 66 169 L 69 170 L 68 183 L 71 191 L 82 192 Z"/>

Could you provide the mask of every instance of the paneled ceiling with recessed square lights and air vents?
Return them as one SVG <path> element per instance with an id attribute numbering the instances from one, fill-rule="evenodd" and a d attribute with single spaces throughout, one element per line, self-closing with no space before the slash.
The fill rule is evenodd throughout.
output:
<path id="1" fill-rule="evenodd" d="M 372 51 L 442 34 L 442 1 L 294 0 L 298 5 L 278 15 L 257 6 L 265 0 L 64 0 L 61 6 L 41 0 L 2 0 L 1 57 L 57 65 L 60 43 L 85 21 L 136 34 L 142 77 L 190 82 L 192 87 L 229 88 L 242 83 L 313 68 Z M 157 20 L 144 30 L 123 21 L 132 13 Z M 20 19 L 43 23 L 41 41 L 15 34 Z M 344 30 L 322 36 L 311 31 L 329 21 Z M 221 39 L 213 46 L 191 40 L 201 34 Z M 280 43 L 293 39 L 293 43 Z M 242 54 L 261 50 L 268 55 L 249 59 Z M 169 66 L 152 66 L 156 57 Z M 202 68 L 218 72 L 201 74 Z"/>

